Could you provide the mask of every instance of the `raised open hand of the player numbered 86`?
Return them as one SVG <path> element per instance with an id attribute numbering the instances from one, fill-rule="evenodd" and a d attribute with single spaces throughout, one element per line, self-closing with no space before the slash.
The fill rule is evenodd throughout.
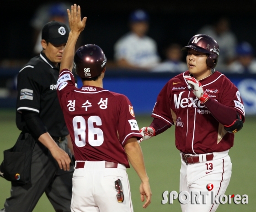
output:
<path id="1" fill-rule="evenodd" d="M 83 20 L 81 20 L 81 9 L 80 6 L 71 6 L 71 11 L 68 9 L 68 16 L 69 16 L 69 27 L 70 31 L 74 33 L 80 33 L 85 28 L 85 22 L 87 20 L 87 17 L 84 17 Z"/>

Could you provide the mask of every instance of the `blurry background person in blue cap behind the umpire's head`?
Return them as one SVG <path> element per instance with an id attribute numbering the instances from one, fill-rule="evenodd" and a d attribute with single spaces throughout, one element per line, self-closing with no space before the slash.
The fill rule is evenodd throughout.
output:
<path id="1" fill-rule="evenodd" d="M 34 54 L 39 54 L 43 49 L 41 46 L 42 28 L 49 21 L 59 21 L 69 27 L 67 9 L 71 3 L 48 3 L 41 5 L 31 20 L 31 26 L 34 28 Z"/>

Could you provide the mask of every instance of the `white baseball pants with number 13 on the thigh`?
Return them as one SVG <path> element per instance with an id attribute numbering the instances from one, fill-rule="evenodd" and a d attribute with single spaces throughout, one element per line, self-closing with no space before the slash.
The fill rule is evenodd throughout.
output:
<path id="1" fill-rule="evenodd" d="M 228 152 L 229 150 L 214 152 L 213 160 L 189 165 L 186 165 L 181 158 L 180 191 L 188 191 L 192 196 L 192 192 L 208 191 L 207 185 L 211 183 L 214 192 L 209 191 L 209 195 L 205 196 L 205 204 L 203 204 L 203 195 L 199 195 L 199 201 L 197 201 L 199 204 L 192 202 L 192 199 L 187 204 L 181 204 L 182 212 L 215 212 L 217 210 L 219 204 L 212 200 L 212 194 L 217 195 L 219 200 L 219 196 L 225 193 L 229 185 L 232 163 Z M 185 200 L 186 196 L 183 197 Z"/>

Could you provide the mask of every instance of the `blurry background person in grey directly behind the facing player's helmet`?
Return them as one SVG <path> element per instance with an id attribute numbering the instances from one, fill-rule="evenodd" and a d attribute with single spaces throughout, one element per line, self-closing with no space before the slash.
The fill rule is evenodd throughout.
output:
<path id="1" fill-rule="evenodd" d="M 237 38 L 230 31 L 229 19 L 221 17 L 213 25 L 201 28 L 197 34 L 212 36 L 218 42 L 220 55 L 216 69 L 225 70 L 227 65 L 235 58 L 235 47 L 237 45 Z"/>

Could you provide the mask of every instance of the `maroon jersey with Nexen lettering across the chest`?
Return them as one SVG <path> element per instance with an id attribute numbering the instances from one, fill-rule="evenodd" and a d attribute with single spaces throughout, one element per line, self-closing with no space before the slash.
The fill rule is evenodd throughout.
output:
<path id="1" fill-rule="evenodd" d="M 178 150 L 188 154 L 204 154 L 229 150 L 234 143 L 234 134 L 228 133 L 210 111 L 189 89 L 184 72 L 172 78 L 158 95 L 153 114 L 171 126 L 175 124 L 175 139 Z M 203 89 L 211 98 L 245 115 L 243 101 L 238 89 L 220 72 L 200 80 Z"/>

